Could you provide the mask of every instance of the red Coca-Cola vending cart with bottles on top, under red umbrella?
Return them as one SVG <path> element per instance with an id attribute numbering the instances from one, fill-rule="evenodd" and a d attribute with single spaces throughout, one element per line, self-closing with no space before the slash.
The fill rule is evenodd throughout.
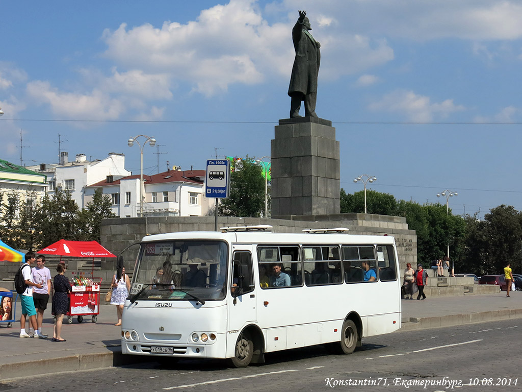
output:
<path id="1" fill-rule="evenodd" d="M 91 316 L 91 321 L 98 321 L 100 314 L 100 283 L 101 278 L 74 278 L 69 293 L 69 310 L 67 324 L 72 324 L 76 316 L 78 322 L 84 321 L 84 316 Z"/>

